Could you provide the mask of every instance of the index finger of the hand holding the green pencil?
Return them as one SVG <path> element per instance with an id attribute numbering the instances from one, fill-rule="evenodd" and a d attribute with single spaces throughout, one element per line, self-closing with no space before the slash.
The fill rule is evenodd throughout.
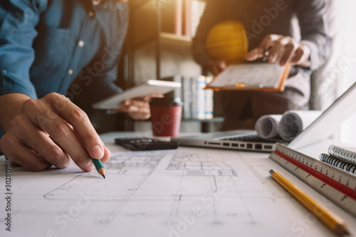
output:
<path id="1" fill-rule="evenodd" d="M 48 96 L 48 98 L 46 97 L 46 99 L 58 115 L 75 128 L 90 157 L 101 159 L 104 155 L 104 147 L 88 115 L 86 115 L 83 110 L 80 110 L 78 106 L 67 100 L 63 95 L 54 94 Z M 78 144 L 78 142 L 75 142 L 75 144 Z"/>

